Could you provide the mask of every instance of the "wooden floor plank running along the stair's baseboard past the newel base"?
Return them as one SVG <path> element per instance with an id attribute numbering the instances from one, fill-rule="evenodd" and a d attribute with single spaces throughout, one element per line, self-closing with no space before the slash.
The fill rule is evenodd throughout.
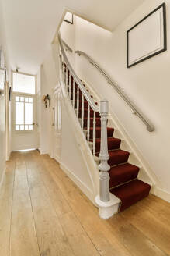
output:
<path id="1" fill-rule="evenodd" d="M 49 162 L 48 158 L 43 158 L 42 160 L 43 165 L 47 165 L 47 162 Z M 94 206 L 92 208 L 89 207 L 91 203 L 88 200 L 84 200 L 82 192 L 78 187 L 75 187 L 75 184 L 72 183 L 61 169 L 55 170 L 55 168 L 55 164 L 54 167 L 50 165 L 50 175 L 57 183 L 57 186 L 62 190 L 64 197 L 71 205 L 72 211 L 82 223 L 83 228 L 86 233 L 88 233 L 88 236 L 93 241 L 93 244 L 95 244 L 99 253 L 103 256 L 130 256 L 130 253 L 123 244 L 121 244 L 120 241 L 117 240 L 116 236 L 114 236 L 106 227 L 105 221 L 99 218 Z M 58 178 L 59 173 L 60 178 Z"/>

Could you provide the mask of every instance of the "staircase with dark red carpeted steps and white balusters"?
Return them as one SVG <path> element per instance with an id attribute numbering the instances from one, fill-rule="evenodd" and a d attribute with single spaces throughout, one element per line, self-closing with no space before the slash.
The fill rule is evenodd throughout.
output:
<path id="1" fill-rule="evenodd" d="M 102 169 L 104 165 L 101 168 L 99 165 L 100 173 L 102 173 L 100 186 L 102 186 L 101 184 L 103 182 L 105 184 L 103 187 L 107 190 L 106 183 L 108 181 L 109 192 L 120 199 L 119 212 L 122 212 L 132 204 L 147 197 L 150 193 L 151 186 L 137 179 L 140 168 L 130 164 L 130 152 L 120 149 L 121 140 L 120 138 L 114 137 L 114 127 L 107 126 L 107 121 L 106 141 L 104 141 L 105 138 L 102 137 L 104 133 L 102 132 L 105 132 L 105 128 L 103 128 L 104 123 L 101 125 L 101 122 L 105 122 L 105 120 L 101 119 L 102 114 L 101 111 L 99 112 L 99 103 L 93 100 L 94 95 L 89 94 L 90 88 L 75 76 L 73 69 L 68 65 L 68 61 L 65 61 L 66 57 L 62 50 L 61 45 L 61 69 L 66 91 L 68 91 L 68 97 L 71 100 L 75 115 L 85 134 L 88 147 L 92 151 L 94 161 L 101 161 L 106 165 L 106 169 Z M 106 154 L 101 153 L 103 144 L 107 147 Z M 102 200 L 108 201 L 106 197 Z"/>

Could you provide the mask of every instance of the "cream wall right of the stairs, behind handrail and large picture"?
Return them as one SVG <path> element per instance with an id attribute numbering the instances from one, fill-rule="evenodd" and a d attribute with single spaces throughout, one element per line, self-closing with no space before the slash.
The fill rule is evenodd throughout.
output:
<path id="1" fill-rule="evenodd" d="M 166 0 L 167 32 L 170 24 L 170 1 Z M 145 1 L 113 33 L 76 18 L 76 50 L 82 50 L 106 69 L 142 112 L 151 119 L 155 131 L 149 133 L 141 120 L 116 94 L 114 89 L 83 57 L 76 57 L 77 72 L 96 91 L 109 100 L 111 110 L 137 145 L 144 159 L 158 177 L 160 190 L 170 193 L 170 34 L 168 51 L 127 69 L 127 30 L 160 5 L 160 0 Z"/>

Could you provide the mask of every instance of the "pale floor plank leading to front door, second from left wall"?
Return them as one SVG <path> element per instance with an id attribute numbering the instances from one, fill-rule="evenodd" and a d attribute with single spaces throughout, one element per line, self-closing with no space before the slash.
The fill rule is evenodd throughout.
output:
<path id="1" fill-rule="evenodd" d="M 13 191 L 11 256 L 39 256 L 33 212 L 29 197 L 26 166 L 23 158 L 16 158 L 16 175 Z"/>

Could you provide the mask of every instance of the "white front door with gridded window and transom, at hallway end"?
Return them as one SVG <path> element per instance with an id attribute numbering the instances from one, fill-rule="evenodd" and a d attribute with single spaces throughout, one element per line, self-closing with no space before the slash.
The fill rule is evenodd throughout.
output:
<path id="1" fill-rule="evenodd" d="M 12 151 L 38 148 L 35 80 L 23 74 L 16 73 L 15 76 L 17 79 L 13 76 L 12 93 Z"/>

